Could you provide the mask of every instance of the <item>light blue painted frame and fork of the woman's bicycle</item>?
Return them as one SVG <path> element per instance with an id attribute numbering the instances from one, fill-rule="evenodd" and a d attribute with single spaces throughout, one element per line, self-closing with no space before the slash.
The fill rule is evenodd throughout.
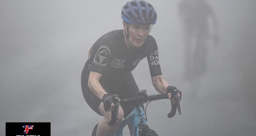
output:
<path id="1" fill-rule="evenodd" d="M 140 111 L 138 111 L 140 110 Z M 134 107 L 132 112 L 122 120 L 120 126 L 117 128 L 114 136 L 123 136 L 123 129 L 129 123 L 132 124 L 132 136 L 139 136 L 139 123 L 147 124 L 146 116 L 142 106 Z"/>

